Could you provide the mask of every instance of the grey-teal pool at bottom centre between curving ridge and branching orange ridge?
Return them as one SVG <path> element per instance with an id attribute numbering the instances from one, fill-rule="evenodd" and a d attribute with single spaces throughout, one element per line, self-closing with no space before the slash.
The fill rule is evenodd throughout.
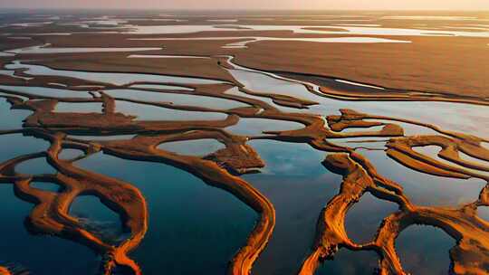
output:
<path id="1" fill-rule="evenodd" d="M 321 209 L 340 191 L 341 176 L 321 166 L 326 154 L 306 144 L 252 140 L 261 174 L 244 175 L 275 207 L 276 224 L 253 274 L 294 274 L 312 250 Z"/>

